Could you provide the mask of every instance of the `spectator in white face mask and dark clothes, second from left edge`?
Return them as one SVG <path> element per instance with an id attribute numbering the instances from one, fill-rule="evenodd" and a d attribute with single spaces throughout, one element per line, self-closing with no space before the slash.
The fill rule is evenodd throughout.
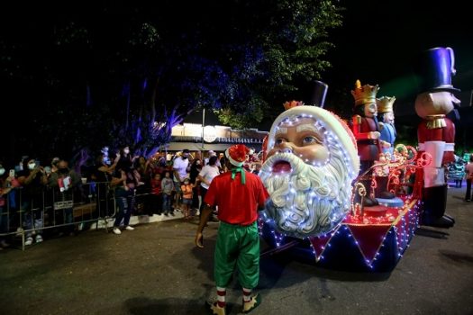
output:
<path id="1" fill-rule="evenodd" d="M 25 230 L 24 245 L 32 245 L 32 232 L 35 230 L 36 243 L 42 242 L 43 227 L 43 189 L 47 183 L 46 174 L 42 166 L 37 165 L 35 159 L 24 158 L 23 170 L 18 172 L 18 182 L 23 187 L 20 195 L 21 210 L 23 213 L 23 227 Z M 34 228 L 33 228 L 34 221 Z"/>

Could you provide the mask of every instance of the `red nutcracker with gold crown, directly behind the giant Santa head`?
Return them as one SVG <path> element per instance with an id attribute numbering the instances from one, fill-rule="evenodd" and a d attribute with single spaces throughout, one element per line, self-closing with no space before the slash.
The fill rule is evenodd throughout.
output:
<path id="1" fill-rule="evenodd" d="M 352 131 L 357 139 L 360 160 L 359 182 L 365 186 L 367 195 L 363 206 L 370 207 L 378 204 L 376 198 L 370 195 L 373 179 L 371 167 L 379 158 L 382 148 L 389 147 L 386 141 L 379 139 L 379 124 L 377 122 L 376 94 L 378 85 L 363 85 L 357 80 L 355 90 L 351 94 L 355 98 L 355 114 L 352 117 Z M 384 199 L 394 198 L 392 193 L 384 192 Z M 356 202 L 359 200 L 356 199 Z"/>

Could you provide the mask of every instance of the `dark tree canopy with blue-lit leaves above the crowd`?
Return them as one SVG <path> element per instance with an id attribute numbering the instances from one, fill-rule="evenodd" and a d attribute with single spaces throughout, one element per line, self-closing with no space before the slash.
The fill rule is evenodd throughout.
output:
<path id="1" fill-rule="evenodd" d="M 273 120 L 301 84 L 330 67 L 328 31 L 341 26 L 335 3 L 7 8 L 0 74 L 6 113 L 20 127 L 11 138 L 13 152 L 67 157 L 81 148 L 129 145 L 149 154 L 202 108 L 236 128 Z"/>

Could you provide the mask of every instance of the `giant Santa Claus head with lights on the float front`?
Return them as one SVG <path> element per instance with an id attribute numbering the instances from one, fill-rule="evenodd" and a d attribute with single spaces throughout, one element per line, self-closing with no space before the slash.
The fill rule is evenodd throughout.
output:
<path id="1" fill-rule="evenodd" d="M 331 231 L 350 211 L 358 173 L 355 139 L 336 115 L 314 106 L 283 112 L 269 131 L 259 173 L 270 194 L 267 219 L 296 238 Z"/>

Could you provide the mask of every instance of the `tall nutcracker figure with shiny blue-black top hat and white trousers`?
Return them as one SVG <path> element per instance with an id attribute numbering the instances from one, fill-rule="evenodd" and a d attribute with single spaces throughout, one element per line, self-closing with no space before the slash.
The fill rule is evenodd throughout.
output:
<path id="1" fill-rule="evenodd" d="M 445 166 L 455 161 L 455 125 L 447 114 L 459 104 L 452 93 L 459 90 L 451 85 L 455 75 L 453 50 L 434 48 L 423 52 L 416 67 L 421 93 L 415 99 L 415 112 L 423 119 L 417 128 L 419 153 L 427 152 L 432 163 L 417 175 L 423 179 L 422 224 L 450 228 L 454 220 L 445 214 L 448 184 Z"/>

